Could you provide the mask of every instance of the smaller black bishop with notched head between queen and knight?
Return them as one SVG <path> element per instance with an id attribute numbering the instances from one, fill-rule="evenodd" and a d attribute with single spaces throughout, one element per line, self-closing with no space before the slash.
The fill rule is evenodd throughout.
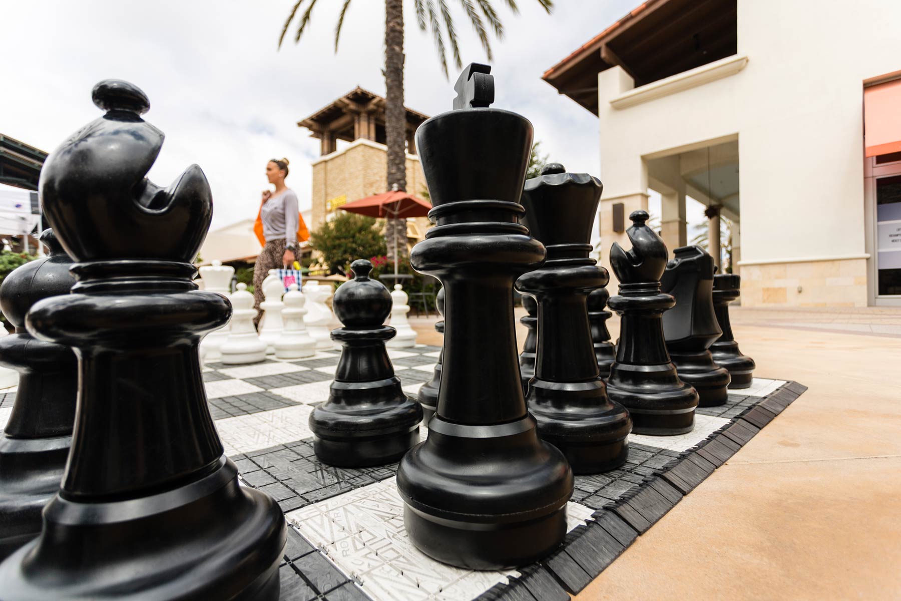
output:
<path id="1" fill-rule="evenodd" d="M 616 360 L 607 378 L 607 394 L 632 415 L 633 432 L 669 436 L 695 427 L 697 392 L 678 378 L 663 339 L 661 315 L 676 304 L 660 292 L 660 276 L 667 266 L 667 247 L 645 225 L 646 211 L 629 215 L 626 230 L 632 249 L 616 242 L 610 265 L 619 279 L 619 295 L 608 305 L 620 314 Z"/>

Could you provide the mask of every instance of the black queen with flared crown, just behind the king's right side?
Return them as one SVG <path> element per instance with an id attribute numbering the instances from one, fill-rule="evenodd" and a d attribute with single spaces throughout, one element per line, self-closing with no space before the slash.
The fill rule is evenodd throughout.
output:
<path id="1" fill-rule="evenodd" d="M 588 257 L 603 188 L 587 173 L 550 163 L 523 190 L 523 223 L 548 250 L 542 267 L 516 280 L 538 302 L 538 354 L 526 402 L 539 435 L 563 451 L 576 474 L 623 465 L 632 430 L 623 405 L 607 397 L 588 324 L 588 294 L 610 279 Z"/>

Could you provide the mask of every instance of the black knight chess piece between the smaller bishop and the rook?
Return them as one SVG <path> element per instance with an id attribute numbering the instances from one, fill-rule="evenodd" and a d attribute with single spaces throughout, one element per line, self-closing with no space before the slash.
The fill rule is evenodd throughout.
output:
<path id="1" fill-rule="evenodd" d="M 660 278 L 660 290 L 676 299 L 663 314 L 663 337 L 678 377 L 695 387 L 698 405 L 723 405 L 729 372 L 716 365 L 708 349 L 723 333 L 714 314 L 714 258 L 699 246 L 673 251 Z"/>

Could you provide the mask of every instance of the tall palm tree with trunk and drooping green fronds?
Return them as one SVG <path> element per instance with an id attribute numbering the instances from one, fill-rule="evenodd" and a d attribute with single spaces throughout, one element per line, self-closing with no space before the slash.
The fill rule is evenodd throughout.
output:
<path id="1" fill-rule="evenodd" d="M 505 0 L 506 5 L 511 11 L 519 12 L 519 7 L 515 0 Z M 551 14 L 552 0 L 537 0 L 539 5 Z M 294 22 L 301 8 L 304 8 L 303 14 L 296 22 L 296 32 L 294 41 L 297 43 L 304 35 L 307 26 L 310 23 L 310 16 L 313 14 L 313 7 L 316 0 L 297 0 L 291 8 L 285 20 L 285 26 L 282 28 L 281 36 L 278 38 L 278 48 L 281 48 L 282 42 L 285 41 L 287 31 Z M 478 40 L 485 50 L 487 59 L 492 59 L 491 44 L 488 40 L 488 28 L 495 33 L 498 40 L 504 38 L 504 26 L 497 16 L 491 0 L 460 0 L 460 5 L 466 13 L 469 23 L 478 35 Z M 341 13 L 338 15 L 338 23 L 335 26 L 335 52 L 338 51 L 338 41 L 341 38 L 341 25 L 344 24 L 344 15 L 350 6 L 350 0 L 343 0 L 341 5 Z M 438 58 L 441 61 L 441 72 L 444 77 L 448 77 L 447 50 L 445 46 L 445 35 L 447 36 L 447 44 L 451 47 L 454 64 L 458 69 L 463 68 L 463 61 L 460 59 L 460 47 L 457 41 L 457 30 L 453 23 L 453 15 L 447 0 L 413 0 L 413 6 L 416 13 L 416 23 L 419 29 L 424 31 L 431 30 L 432 38 L 435 41 L 435 48 L 438 51 Z M 483 19 L 484 17 L 484 19 Z M 487 27 L 486 27 L 487 23 Z M 442 29 L 443 28 L 443 29 Z M 406 115 L 404 109 L 404 0 L 385 0 L 385 135 L 387 143 L 387 185 L 388 189 L 406 190 Z M 391 243 L 395 240 L 405 240 L 406 238 L 406 220 L 388 220 L 385 231 L 388 252 L 394 254 L 392 250 L 397 247 L 401 254 L 406 252 L 406 244 L 396 245 Z M 393 259 L 393 257 L 391 257 Z"/>

